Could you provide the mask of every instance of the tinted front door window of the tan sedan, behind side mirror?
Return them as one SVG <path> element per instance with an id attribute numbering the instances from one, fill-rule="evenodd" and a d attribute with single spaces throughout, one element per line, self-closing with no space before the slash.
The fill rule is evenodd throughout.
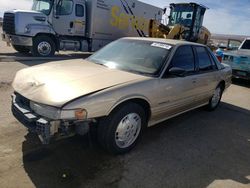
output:
<path id="1" fill-rule="evenodd" d="M 177 49 L 170 68 L 178 67 L 187 72 L 194 71 L 194 54 L 191 46 L 181 46 Z"/>

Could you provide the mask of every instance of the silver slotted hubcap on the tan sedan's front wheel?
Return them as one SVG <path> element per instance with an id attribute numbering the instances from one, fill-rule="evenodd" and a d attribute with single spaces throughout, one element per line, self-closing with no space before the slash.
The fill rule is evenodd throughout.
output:
<path id="1" fill-rule="evenodd" d="M 141 131 L 141 117 L 136 113 L 126 115 L 115 132 L 116 145 L 119 148 L 131 146 Z"/>

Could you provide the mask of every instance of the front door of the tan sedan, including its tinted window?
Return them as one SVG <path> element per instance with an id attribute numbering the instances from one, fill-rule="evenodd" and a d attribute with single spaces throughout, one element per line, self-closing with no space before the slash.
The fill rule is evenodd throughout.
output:
<path id="1" fill-rule="evenodd" d="M 185 69 L 186 75 L 170 75 L 169 70 L 173 67 Z M 190 45 L 178 47 L 166 72 L 159 79 L 158 88 L 158 106 L 154 109 L 155 121 L 196 106 L 195 57 Z"/>

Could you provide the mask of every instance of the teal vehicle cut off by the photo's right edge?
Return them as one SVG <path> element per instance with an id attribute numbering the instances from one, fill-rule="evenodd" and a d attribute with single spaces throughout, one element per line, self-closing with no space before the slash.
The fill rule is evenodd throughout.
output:
<path id="1" fill-rule="evenodd" d="M 238 50 L 224 52 L 223 63 L 232 67 L 234 78 L 250 80 L 250 38 Z"/>

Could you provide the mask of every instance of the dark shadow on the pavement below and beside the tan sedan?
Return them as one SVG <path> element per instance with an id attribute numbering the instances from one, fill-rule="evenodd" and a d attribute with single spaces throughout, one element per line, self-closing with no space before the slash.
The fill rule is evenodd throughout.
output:
<path id="1" fill-rule="evenodd" d="M 124 156 L 88 137 L 43 148 L 23 142 L 24 169 L 36 187 L 206 187 L 215 180 L 249 184 L 250 112 L 230 104 L 197 109 L 146 130 Z M 166 126 L 167 125 L 167 126 Z"/>

